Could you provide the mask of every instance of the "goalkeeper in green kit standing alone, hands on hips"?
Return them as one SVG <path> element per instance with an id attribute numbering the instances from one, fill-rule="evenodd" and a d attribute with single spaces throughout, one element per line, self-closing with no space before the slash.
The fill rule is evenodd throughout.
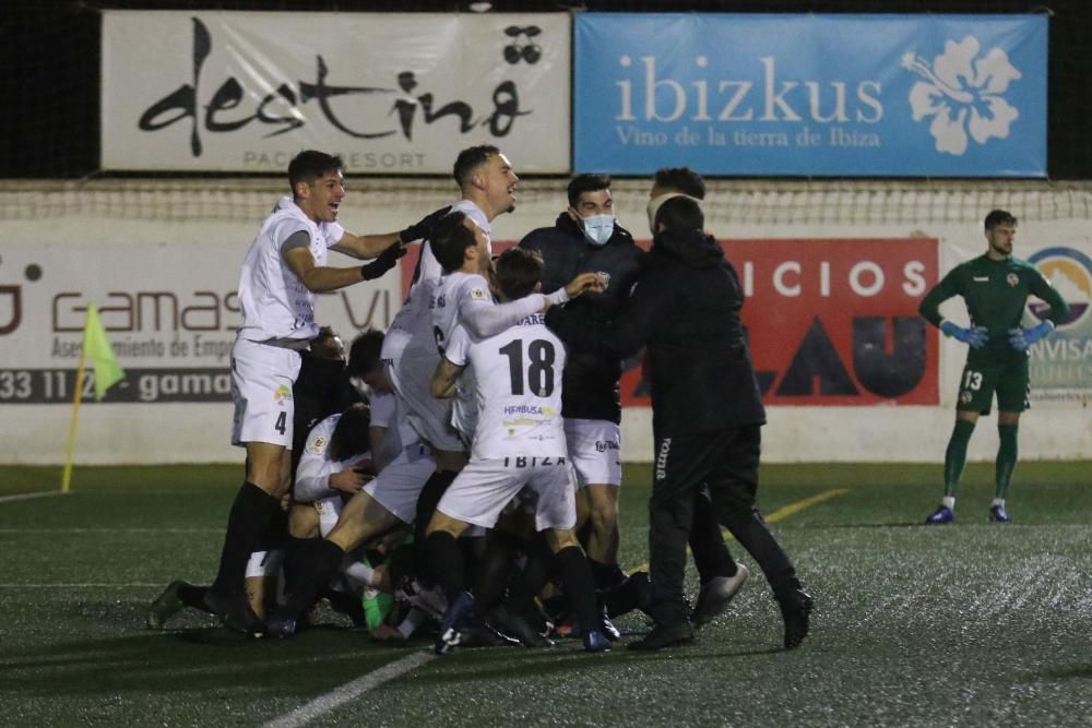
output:
<path id="1" fill-rule="evenodd" d="M 1017 464 L 1017 428 L 1020 413 L 1028 408 L 1028 348 L 1040 341 L 1069 314 L 1069 306 L 1038 270 L 1012 256 L 1017 218 L 1004 210 L 986 215 L 987 248 L 983 255 L 952 268 L 925 295 L 917 311 L 946 336 L 970 346 L 966 366 L 960 378 L 956 404 L 956 427 L 945 452 L 945 497 L 927 524 L 956 520 L 956 489 L 959 486 L 966 445 L 980 415 L 988 415 L 997 393 L 996 489 L 989 520 L 1008 523 L 1005 492 Z M 939 306 L 962 296 L 971 317 L 963 329 L 941 318 Z M 1028 297 L 1036 296 L 1051 306 L 1049 319 L 1032 329 L 1020 325 Z"/>

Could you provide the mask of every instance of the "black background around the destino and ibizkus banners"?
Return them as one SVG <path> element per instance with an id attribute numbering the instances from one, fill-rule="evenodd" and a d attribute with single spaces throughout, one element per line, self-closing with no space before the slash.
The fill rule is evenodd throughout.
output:
<path id="1" fill-rule="evenodd" d="M 81 178 L 98 171 L 103 9 L 467 12 L 455 0 L 8 0 L 0 9 L 0 178 Z M 1092 179 L 1092 1 L 1014 0 L 495 0 L 497 12 L 1049 13 L 1047 169 Z"/>

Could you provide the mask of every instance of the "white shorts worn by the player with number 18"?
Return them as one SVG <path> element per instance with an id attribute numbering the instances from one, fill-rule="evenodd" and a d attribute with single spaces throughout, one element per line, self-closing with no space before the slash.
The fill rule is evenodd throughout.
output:
<path id="1" fill-rule="evenodd" d="M 524 488 L 538 493 L 535 527 L 567 530 L 577 525 L 575 480 L 565 457 L 510 456 L 471 460 L 443 493 L 436 510 L 483 528 L 492 528 L 508 503 Z"/>

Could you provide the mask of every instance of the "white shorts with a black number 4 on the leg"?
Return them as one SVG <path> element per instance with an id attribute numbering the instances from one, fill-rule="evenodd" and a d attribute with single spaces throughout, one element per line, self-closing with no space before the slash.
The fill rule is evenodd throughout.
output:
<path id="1" fill-rule="evenodd" d="M 268 442 L 292 449 L 292 385 L 299 351 L 236 338 L 232 347 L 232 444 Z"/>

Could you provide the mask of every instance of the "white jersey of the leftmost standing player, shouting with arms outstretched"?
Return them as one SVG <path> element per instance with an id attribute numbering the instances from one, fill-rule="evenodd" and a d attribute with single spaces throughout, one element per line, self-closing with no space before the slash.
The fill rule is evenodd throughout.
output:
<path id="1" fill-rule="evenodd" d="M 242 260 L 239 276 L 242 325 L 239 326 L 239 337 L 264 342 L 270 338 L 311 339 L 318 336 L 314 294 L 296 277 L 283 256 L 285 240 L 300 230 L 310 238 L 316 265 L 327 264 L 327 249 L 337 244 L 345 235 L 345 228 L 337 223 L 316 223 L 290 196 L 282 198 L 262 222 Z"/>

